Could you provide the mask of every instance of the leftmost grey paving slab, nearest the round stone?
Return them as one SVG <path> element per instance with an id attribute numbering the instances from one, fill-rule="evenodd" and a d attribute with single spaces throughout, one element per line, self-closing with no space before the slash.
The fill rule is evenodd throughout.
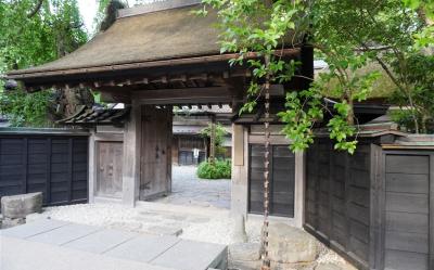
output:
<path id="1" fill-rule="evenodd" d="M 66 226 L 68 222 L 51 219 L 40 219 L 31 223 L 17 226 L 14 228 L 2 230 L 1 233 L 4 236 L 27 239 L 35 236 L 40 233 L 44 233 L 60 227 Z"/>

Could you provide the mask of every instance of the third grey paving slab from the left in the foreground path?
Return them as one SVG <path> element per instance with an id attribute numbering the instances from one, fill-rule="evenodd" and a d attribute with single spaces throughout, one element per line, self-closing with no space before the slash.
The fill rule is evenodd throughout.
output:
<path id="1" fill-rule="evenodd" d="M 65 247 L 76 248 L 90 253 L 103 254 L 117 245 L 120 245 L 133 236 L 137 233 L 124 232 L 116 230 L 102 230 L 85 237 L 75 240 L 64 245 Z"/>

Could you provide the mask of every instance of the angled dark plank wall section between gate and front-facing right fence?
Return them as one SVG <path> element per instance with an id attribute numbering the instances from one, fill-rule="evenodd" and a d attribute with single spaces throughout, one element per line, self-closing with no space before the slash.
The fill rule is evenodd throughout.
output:
<path id="1" fill-rule="evenodd" d="M 306 158 L 305 228 L 360 269 L 370 255 L 370 145 L 355 155 L 336 152 L 330 141 L 314 144 Z"/>

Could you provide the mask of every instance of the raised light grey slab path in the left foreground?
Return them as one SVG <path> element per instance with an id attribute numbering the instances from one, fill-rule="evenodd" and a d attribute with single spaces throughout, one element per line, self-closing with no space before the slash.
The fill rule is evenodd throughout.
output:
<path id="1" fill-rule="evenodd" d="M 1 270 L 226 269 L 224 245 L 41 219 L 0 231 Z"/>

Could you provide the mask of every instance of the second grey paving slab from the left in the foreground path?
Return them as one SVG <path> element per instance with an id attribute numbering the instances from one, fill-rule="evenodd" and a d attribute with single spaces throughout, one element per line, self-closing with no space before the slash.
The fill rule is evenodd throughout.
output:
<path id="1" fill-rule="evenodd" d="M 68 242 L 84 237 L 100 230 L 101 229 L 91 226 L 67 224 L 52 231 L 31 236 L 28 240 L 53 245 L 64 245 Z"/>

